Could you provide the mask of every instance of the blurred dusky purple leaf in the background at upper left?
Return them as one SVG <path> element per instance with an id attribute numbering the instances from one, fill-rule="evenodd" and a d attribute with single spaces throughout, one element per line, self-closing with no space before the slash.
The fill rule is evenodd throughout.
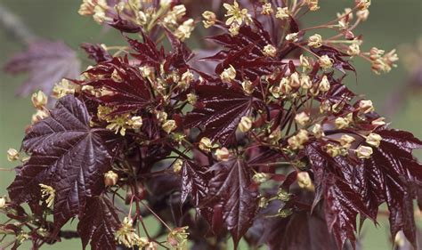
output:
<path id="1" fill-rule="evenodd" d="M 12 74 L 28 73 L 19 95 L 25 96 L 38 89 L 49 94 L 62 78 L 79 76 L 80 61 L 66 44 L 42 40 L 29 44 L 28 51 L 14 55 L 4 70 Z"/>

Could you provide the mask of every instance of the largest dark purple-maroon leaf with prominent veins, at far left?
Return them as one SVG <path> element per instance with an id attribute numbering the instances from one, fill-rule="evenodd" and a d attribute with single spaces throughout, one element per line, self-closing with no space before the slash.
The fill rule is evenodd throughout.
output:
<path id="1" fill-rule="evenodd" d="M 89 121 L 83 102 L 71 95 L 61 98 L 51 117 L 29 130 L 23 149 L 32 155 L 8 188 L 12 201 L 22 203 L 39 200 L 40 183 L 52 186 L 56 230 L 84 213 L 87 198 L 101 194 L 103 173 L 110 169 L 104 131 Z"/>

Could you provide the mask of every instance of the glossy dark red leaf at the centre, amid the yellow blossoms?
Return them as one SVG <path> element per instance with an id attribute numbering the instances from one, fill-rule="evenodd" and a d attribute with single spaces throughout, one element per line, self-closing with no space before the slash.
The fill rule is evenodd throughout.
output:
<path id="1" fill-rule="evenodd" d="M 241 90 L 223 85 L 198 85 L 196 93 L 202 107 L 193 109 L 186 117 L 184 125 L 188 128 L 202 126 L 200 137 L 220 141 L 223 145 L 233 139 L 240 118 L 252 106 L 252 98 Z"/>

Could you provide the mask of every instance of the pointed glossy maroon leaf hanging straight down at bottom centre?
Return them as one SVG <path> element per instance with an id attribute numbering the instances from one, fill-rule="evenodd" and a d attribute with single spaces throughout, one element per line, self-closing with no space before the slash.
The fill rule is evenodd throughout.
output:
<path id="1" fill-rule="evenodd" d="M 235 246 L 252 225 L 257 210 L 257 192 L 250 187 L 248 165 L 232 159 L 213 165 L 215 173 L 209 181 L 209 195 L 223 203 L 223 222 L 231 232 Z"/>

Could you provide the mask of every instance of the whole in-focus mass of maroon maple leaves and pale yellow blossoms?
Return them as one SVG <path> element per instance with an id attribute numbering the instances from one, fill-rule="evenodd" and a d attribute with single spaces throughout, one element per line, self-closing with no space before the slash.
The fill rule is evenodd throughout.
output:
<path id="1" fill-rule="evenodd" d="M 422 141 L 388 128 L 372 101 L 342 84 L 352 58 L 377 74 L 398 60 L 361 52 L 353 30 L 370 1 L 308 28 L 297 20 L 321 11 L 317 0 L 223 3 L 202 12 L 219 35 L 201 58 L 184 44 L 195 19 L 182 2 L 84 0 L 79 13 L 128 45 L 84 44 L 95 63 L 54 86 L 54 108 L 44 93 L 32 96 L 28 157 L 8 151 L 22 164 L 0 202 L 19 222 L 1 228 L 12 244 L 51 244 L 77 217 L 76 236 L 92 249 L 220 249 L 229 235 L 235 247 L 245 238 L 250 247 L 353 249 L 357 215 L 376 222 L 386 203 L 392 237 L 416 246 L 422 166 L 411 151 Z"/>

